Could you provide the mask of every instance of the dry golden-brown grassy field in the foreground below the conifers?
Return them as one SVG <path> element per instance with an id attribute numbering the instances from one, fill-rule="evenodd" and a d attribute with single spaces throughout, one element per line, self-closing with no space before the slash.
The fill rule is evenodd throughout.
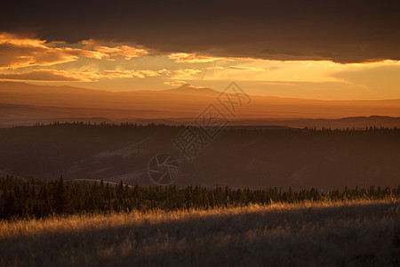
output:
<path id="1" fill-rule="evenodd" d="M 0 221 L 2 266 L 400 264 L 400 201 Z"/>

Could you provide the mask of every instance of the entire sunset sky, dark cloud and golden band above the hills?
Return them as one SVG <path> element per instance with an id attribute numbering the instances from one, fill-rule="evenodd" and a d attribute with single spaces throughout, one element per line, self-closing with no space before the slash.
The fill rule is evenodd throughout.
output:
<path id="1" fill-rule="evenodd" d="M 0 80 L 109 91 L 236 81 L 259 95 L 400 99 L 395 1 L 246 4 L 5 4 Z"/>

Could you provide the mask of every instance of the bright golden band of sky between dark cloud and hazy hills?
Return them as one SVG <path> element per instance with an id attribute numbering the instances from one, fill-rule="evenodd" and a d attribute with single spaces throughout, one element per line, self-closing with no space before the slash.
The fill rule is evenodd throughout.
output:
<path id="1" fill-rule="evenodd" d="M 315 99 L 400 99 L 400 63 L 340 64 L 160 53 L 133 44 L 77 44 L 0 34 L 0 80 L 109 91 L 164 90 L 189 83 Z"/>

